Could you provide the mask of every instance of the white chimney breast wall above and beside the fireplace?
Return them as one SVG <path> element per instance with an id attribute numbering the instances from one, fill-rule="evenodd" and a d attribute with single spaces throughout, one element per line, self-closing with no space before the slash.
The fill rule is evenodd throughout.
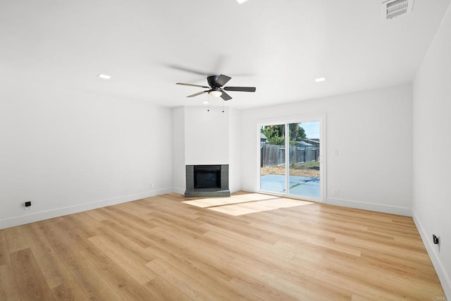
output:
<path id="1" fill-rule="evenodd" d="M 173 192 L 186 189 L 185 165 L 229 164 L 229 189 L 241 190 L 240 111 L 226 107 L 174 108 Z"/>

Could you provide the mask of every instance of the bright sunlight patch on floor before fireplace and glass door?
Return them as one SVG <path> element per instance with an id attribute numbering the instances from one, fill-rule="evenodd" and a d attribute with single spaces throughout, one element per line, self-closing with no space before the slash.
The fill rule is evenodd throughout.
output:
<path id="1" fill-rule="evenodd" d="M 183 203 L 233 216 L 313 204 L 312 202 L 298 199 L 261 195 L 259 193 L 244 193 L 232 195 L 230 197 L 193 199 Z"/>

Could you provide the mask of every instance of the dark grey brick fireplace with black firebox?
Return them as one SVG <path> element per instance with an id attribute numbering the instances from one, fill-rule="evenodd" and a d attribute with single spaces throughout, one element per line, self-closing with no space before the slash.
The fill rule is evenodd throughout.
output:
<path id="1" fill-rule="evenodd" d="M 228 165 L 187 165 L 185 197 L 228 197 Z"/>

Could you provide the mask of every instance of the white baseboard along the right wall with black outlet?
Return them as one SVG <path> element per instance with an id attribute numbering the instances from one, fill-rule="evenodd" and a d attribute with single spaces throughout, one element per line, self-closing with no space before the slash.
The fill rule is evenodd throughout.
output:
<path id="1" fill-rule="evenodd" d="M 432 244 L 432 238 L 425 231 L 423 225 L 416 216 L 415 211 L 413 211 L 412 218 L 414 219 L 414 223 L 416 225 L 416 228 L 418 229 L 418 232 L 420 233 L 424 246 L 428 251 L 429 257 L 431 258 L 432 264 L 435 268 L 435 271 L 437 272 L 438 278 L 440 279 L 440 283 L 442 284 L 443 290 L 445 291 L 447 300 L 451 300 L 450 275 L 447 274 L 445 266 L 443 266 L 440 257 L 438 256 L 437 250 L 435 246 Z"/>

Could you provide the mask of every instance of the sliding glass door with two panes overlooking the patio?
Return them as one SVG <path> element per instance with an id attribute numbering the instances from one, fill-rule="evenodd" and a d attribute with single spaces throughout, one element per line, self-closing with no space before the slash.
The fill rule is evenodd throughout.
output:
<path id="1" fill-rule="evenodd" d="M 323 199 L 321 119 L 259 125 L 259 190 Z"/>

